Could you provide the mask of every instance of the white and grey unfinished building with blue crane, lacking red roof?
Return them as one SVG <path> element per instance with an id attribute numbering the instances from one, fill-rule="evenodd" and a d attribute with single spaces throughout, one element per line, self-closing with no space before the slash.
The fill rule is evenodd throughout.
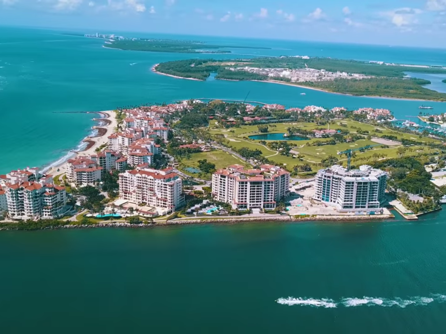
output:
<path id="1" fill-rule="evenodd" d="M 386 186 L 385 171 L 367 165 L 355 170 L 335 165 L 316 174 L 314 199 L 340 212 L 376 211 L 384 201 Z"/>

